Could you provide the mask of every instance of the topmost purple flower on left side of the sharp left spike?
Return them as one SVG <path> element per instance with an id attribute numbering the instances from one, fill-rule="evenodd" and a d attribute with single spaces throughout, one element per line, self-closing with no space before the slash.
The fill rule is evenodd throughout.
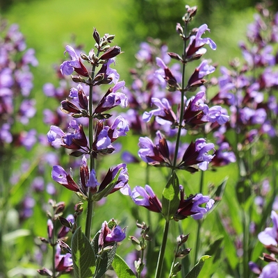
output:
<path id="1" fill-rule="evenodd" d="M 83 63 L 81 63 L 81 58 L 76 54 L 75 50 L 70 47 L 70 45 L 65 47 L 65 52 L 70 54 L 72 60 L 63 62 L 63 64 L 60 65 L 60 72 L 65 75 L 70 75 L 75 71 L 82 76 L 89 76 L 88 70 Z"/>

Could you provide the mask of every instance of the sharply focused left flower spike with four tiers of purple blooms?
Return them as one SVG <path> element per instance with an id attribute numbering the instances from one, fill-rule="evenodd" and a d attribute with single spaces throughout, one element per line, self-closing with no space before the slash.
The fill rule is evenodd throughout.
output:
<path id="1" fill-rule="evenodd" d="M 113 187 L 116 186 L 118 190 L 128 186 L 126 166 L 120 164 L 113 170 L 108 170 L 104 181 L 98 183 L 95 169 L 90 167 L 89 170 L 85 155 L 90 156 L 92 160 L 97 158 L 98 154 L 113 153 L 115 151 L 115 147 L 112 145 L 113 142 L 120 136 L 126 136 L 129 126 L 122 116 L 114 117 L 112 122 L 108 122 L 107 119 L 112 115 L 106 113 L 106 111 L 111 110 L 115 106 L 126 107 L 127 105 L 126 95 L 119 92 L 124 88 L 124 81 L 119 81 L 119 74 L 111 68 L 111 65 L 115 63 L 115 56 L 121 52 L 120 47 L 109 47 L 108 43 L 113 40 L 113 35 L 105 35 L 103 38 L 100 38 L 99 33 L 95 30 L 93 36 L 96 40 L 97 54 L 94 49 L 87 56 L 80 51 L 75 51 L 69 45 L 65 48 L 65 53 L 70 54 L 71 60 L 67 60 L 60 65 L 60 72 L 65 75 L 76 72 L 79 75 L 72 75 L 72 81 L 79 84 L 76 88 L 70 89 L 69 98 L 60 101 L 60 110 L 67 115 L 71 115 L 74 120 L 68 123 L 67 132 L 56 125 L 51 125 L 50 131 L 47 133 L 47 139 L 54 147 L 60 146 L 70 149 L 72 156 L 83 156 L 80 167 L 81 182 L 79 185 L 59 165 L 54 166 L 52 171 L 54 181 L 57 181 L 85 199 L 88 199 L 90 191 L 92 195 L 97 196 L 95 196 L 94 200 L 99 200 L 99 193 L 110 185 L 116 176 L 117 181 L 113 181 Z M 103 52 L 102 55 L 100 55 L 101 52 Z M 93 67 L 94 74 L 95 69 L 99 66 L 101 67 L 95 75 L 90 76 L 89 71 L 84 65 L 85 62 Z M 99 100 L 97 100 L 98 95 L 92 97 L 93 88 L 101 84 L 111 83 L 115 85 L 108 88 L 106 94 Z M 95 106 L 92 106 L 93 102 L 96 103 Z M 79 121 L 80 118 L 85 118 L 90 123 L 94 122 L 95 128 L 90 130 L 89 138 L 84 131 L 83 124 Z M 93 136 L 92 133 L 94 133 Z M 92 162 L 90 165 L 92 165 Z M 122 173 L 120 176 L 117 173 L 118 171 Z M 99 186 L 98 190 L 97 186 Z M 113 189 L 111 186 L 108 186 L 108 188 L 110 188 L 109 192 L 105 192 L 101 197 L 116 190 L 116 188 Z"/>

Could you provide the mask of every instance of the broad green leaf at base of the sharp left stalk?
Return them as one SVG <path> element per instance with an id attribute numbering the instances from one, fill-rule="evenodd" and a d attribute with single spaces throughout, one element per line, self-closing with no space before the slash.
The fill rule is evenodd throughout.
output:
<path id="1" fill-rule="evenodd" d="M 95 272 L 95 253 L 88 238 L 81 231 L 76 229 L 72 236 L 72 261 L 74 263 L 74 277 L 88 278 Z"/>

